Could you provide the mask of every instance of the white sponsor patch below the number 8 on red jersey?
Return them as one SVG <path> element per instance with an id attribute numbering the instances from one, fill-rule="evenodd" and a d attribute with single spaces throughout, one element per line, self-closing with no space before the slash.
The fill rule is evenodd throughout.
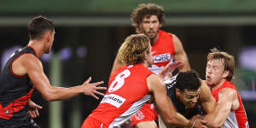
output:
<path id="1" fill-rule="evenodd" d="M 101 103 L 109 103 L 111 105 L 113 105 L 116 108 L 119 108 L 124 102 L 125 102 L 125 98 L 121 97 L 121 96 L 117 96 L 115 94 L 109 94 L 109 95 L 105 95 L 102 99 Z"/>

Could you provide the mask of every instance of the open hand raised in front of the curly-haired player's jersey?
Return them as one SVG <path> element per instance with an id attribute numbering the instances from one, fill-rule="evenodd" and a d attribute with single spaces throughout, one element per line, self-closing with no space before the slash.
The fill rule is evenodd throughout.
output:
<path id="1" fill-rule="evenodd" d="M 164 67 L 160 73 L 158 74 L 158 76 L 160 77 L 160 79 L 165 80 L 166 77 L 167 79 L 172 77 L 172 72 L 177 68 L 177 67 L 181 67 L 183 65 L 183 63 L 181 61 L 173 61 L 173 62 L 169 62 L 166 67 Z"/>

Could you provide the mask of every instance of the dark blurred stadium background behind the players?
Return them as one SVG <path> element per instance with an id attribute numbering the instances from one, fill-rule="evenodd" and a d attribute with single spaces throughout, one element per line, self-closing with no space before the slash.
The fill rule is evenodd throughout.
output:
<path id="1" fill-rule="evenodd" d="M 8 56 L 28 42 L 27 22 L 44 15 L 55 23 L 52 53 L 44 55 L 45 73 L 52 84 L 73 86 L 85 79 L 105 81 L 119 45 L 135 33 L 132 9 L 139 3 L 164 7 L 166 24 L 183 43 L 190 66 L 204 79 L 207 52 L 213 47 L 236 57 L 236 79 L 249 124 L 256 127 L 256 1 L 254 0 L 1 0 L 1 67 Z M 44 108 L 36 119 L 43 128 L 76 128 L 100 101 L 76 96 L 64 102 L 45 102 L 38 91 L 32 100 Z"/>

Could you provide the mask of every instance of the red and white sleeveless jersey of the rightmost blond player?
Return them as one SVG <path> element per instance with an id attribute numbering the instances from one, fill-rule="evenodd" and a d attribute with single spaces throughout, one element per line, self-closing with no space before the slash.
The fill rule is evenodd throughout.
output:
<path id="1" fill-rule="evenodd" d="M 212 91 L 212 96 L 215 98 L 216 102 L 218 102 L 218 92 L 224 88 L 231 88 L 236 90 L 236 86 L 232 82 L 225 81 L 221 87 L 219 87 L 217 90 Z M 224 123 L 224 128 L 249 128 L 247 114 L 241 102 L 241 96 L 239 95 L 237 90 L 236 94 L 240 102 L 239 108 L 230 111 L 230 115 Z"/>

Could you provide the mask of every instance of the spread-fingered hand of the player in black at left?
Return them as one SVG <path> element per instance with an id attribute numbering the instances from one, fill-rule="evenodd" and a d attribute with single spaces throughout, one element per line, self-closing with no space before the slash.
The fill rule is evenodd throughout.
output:
<path id="1" fill-rule="evenodd" d="M 96 83 L 90 83 L 91 77 L 89 79 L 87 79 L 83 85 L 83 89 L 84 89 L 84 95 L 87 96 L 93 96 L 94 98 L 96 98 L 97 100 L 99 99 L 97 95 L 101 95 L 104 96 L 104 94 L 98 90 L 107 90 L 106 87 L 98 87 L 98 85 L 103 84 L 104 82 L 96 82 Z"/>

